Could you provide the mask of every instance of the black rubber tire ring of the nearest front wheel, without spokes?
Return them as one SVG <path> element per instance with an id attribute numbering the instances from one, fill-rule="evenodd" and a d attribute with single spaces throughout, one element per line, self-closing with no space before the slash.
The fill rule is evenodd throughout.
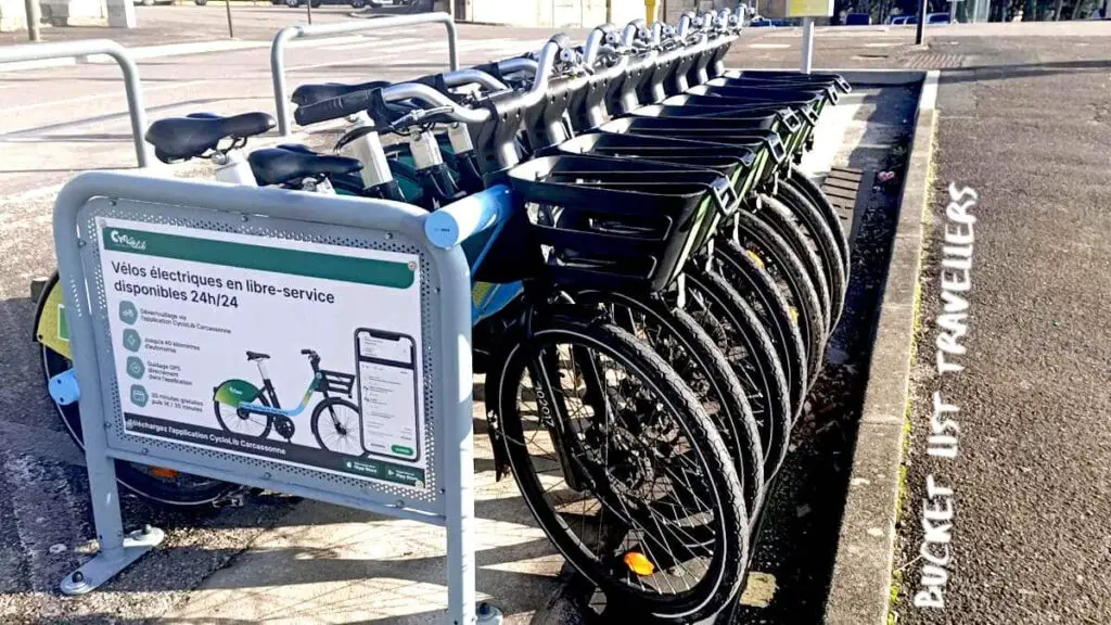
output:
<path id="1" fill-rule="evenodd" d="M 577 316 L 556 315 L 532 321 L 534 347 L 541 341 L 573 341 L 582 349 L 621 359 L 641 379 L 657 390 L 660 401 L 682 415 L 677 425 L 698 445 L 691 453 L 703 469 L 705 490 L 714 503 L 715 548 L 712 569 L 689 592 L 664 598 L 660 594 L 633 592 L 617 578 L 617 568 L 589 553 L 582 539 L 562 520 L 546 499 L 539 474 L 531 464 L 526 445 L 522 417 L 517 406 L 517 390 L 529 365 L 523 334 L 510 338 L 487 379 L 488 400 L 498 416 L 501 442 L 522 497 L 537 522 L 563 557 L 587 579 L 607 594 L 614 604 L 628 604 L 640 612 L 665 619 L 698 621 L 721 612 L 735 597 L 748 565 L 748 517 L 744 513 L 743 489 L 733 469 L 732 458 L 715 426 L 702 409 L 694 394 L 667 363 L 647 345 L 604 320 L 583 320 Z M 558 413 L 559 410 L 557 410 Z M 604 508 L 603 508 L 604 509 Z M 697 591 L 697 592 L 695 592 Z"/>

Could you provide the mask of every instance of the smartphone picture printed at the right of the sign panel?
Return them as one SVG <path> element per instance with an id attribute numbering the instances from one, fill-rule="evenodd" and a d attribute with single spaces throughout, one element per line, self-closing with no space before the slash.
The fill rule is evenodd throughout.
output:
<path id="1" fill-rule="evenodd" d="M 419 460 L 417 343 L 407 335 L 359 328 L 354 331 L 354 355 L 363 450 Z"/>

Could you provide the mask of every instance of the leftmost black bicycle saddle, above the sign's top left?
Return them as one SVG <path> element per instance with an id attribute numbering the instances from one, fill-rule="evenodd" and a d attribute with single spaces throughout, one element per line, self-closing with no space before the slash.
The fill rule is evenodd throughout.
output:
<path id="1" fill-rule="evenodd" d="M 232 117 L 196 113 L 160 119 L 150 125 L 143 138 L 154 146 L 162 162 L 189 160 L 216 149 L 221 139 L 246 139 L 271 130 L 278 122 L 264 112 Z"/>

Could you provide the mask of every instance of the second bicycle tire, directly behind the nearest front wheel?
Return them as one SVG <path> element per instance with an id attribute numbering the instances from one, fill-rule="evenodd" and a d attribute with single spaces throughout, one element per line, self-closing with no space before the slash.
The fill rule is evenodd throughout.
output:
<path id="1" fill-rule="evenodd" d="M 652 315 L 657 323 L 664 326 L 665 331 L 678 339 L 680 344 L 678 350 L 661 353 L 660 347 L 663 346 L 657 347 L 650 340 L 637 336 L 637 333 L 630 328 L 622 327 L 620 321 L 613 320 L 614 325 L 647 343 L 669 367 L 679 374 L 683 381 L 691 387 L 691 390 L 694 390 L 707 415 L 718 427 L 718 431 L 725 443 L 725 448 L 733 458 L 734 468 L 741 478 L 741 487 L 744 489 L 745 512 L 749 519 L 754 520 L 763 504 L 764 454 L 760 443 L 760 430 L 741 380 L 738 379 L 729 360 L 714 345 L 710 335 L 685 310 L 671 306 L 659 298 L 600 291 L 575 294 L 574 298 L 583 304 L 605 305 L 608 301 L 614 301 L 630 308 L 635 307 Z M 650 330 L 645 328 L 645 335 L 649 333 Z M 701 369 L 700 371 L 691 371 L 689 366 L 679 361 L 679 358 L 684 354 L 693 356 L 694 365 Z M 698 379 L 695 376 L 700 374 L 709 383 L 712 390 L 702 391 L 692 386 L 692 379 Z M 714 403 L 720 403 L 720 409 L 713 406 Z"/>

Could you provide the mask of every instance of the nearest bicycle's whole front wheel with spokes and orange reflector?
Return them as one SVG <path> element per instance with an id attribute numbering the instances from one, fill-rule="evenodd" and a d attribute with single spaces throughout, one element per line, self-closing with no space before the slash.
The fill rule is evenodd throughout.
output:
<path id="1" fill-rule="evenodd" d="M 488 378 L 521 494 L 563 556 L 615 604 L 697 621 L 748 562 L 743 490 L 698 398 L 612 324 L 533 321 Z"/>

